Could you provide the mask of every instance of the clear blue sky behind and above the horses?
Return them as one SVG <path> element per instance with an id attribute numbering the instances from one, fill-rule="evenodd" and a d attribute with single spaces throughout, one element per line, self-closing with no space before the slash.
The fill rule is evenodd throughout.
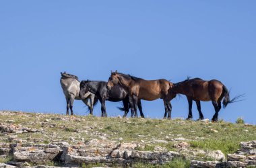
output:
<path id="1" fill-rule="evenodd" d="M 60 72 L 104 80 L 110 70 L 143 79 L 218 79 L 230 96 L 219 118 L 256 124 L 256 1 L 1 1 L 0 109 L 65 114 Z M 172 117 L 187 118 L 185 96 Z M 122 115 L 106 103 L 109 116 Z M 162 118 L 161 99 L 142 101 L 144 114 Z M 212 103 L 202 102 L 205 118 Z M 82 101 L 74 112 L 88 115 Z M 94 110 L 100 115 L 100 103 Z M 193 118 L 199 117 L 193 103 Z"/>

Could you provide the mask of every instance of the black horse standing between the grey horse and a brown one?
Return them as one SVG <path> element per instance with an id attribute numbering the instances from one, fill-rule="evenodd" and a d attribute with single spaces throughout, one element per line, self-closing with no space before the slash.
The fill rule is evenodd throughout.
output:
<path id="1" fill-rule="evenodd" d="M 100 100 L 102 117 L 107 116 L 105 106 L 106 100 L 113 102 L 123 101 L 123 108 L 119 108 L 119 110 L 125 111 L 123 118 L 127 116 L 129 108 L 131 108 L 131 103 L 129 102 L 129 94 L 127 93 L 127 91 L 125 91 L 125 89 L 123 89 L 123 87 L 121 87 L 121 85 L 115 85 L 115 87 L 108 90 L 106 88 L 105 81 L 82 81 L 80 83 L 79 96 L 83 97 L 83 95 L 85 95 L 85 93 L 87 93 L 88 91 L 94 93 L 96 97 Z M 144 118 L 140 99 L 137 101 L 137 106 L 139 108 L 141 118 Z"/>

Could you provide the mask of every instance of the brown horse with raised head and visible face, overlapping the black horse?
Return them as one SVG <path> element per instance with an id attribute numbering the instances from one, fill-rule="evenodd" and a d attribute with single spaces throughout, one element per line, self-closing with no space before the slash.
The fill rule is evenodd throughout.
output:
<path id="1" fill-rule="evenodd" d="M 172 106 L 170 104 L 170 100 L 174 98 L 173 95 L 170 96 L 169 89 L 172 87 L 170 81 L 166 79 L 158 79 L 158 80 L 144 80 L 141 78 L 133 77 L 131 75 L 125 75 L 123 73 L 114 73 L 111 71 L 111 75 L 108 79 L 107 87 L 111 89 L 116 85 L 121 85 L 127 93 L 129 93 L 131 112 L 132 115 L 135 114 L 135 118 L 137 118 L 137 101 L 138 99 L 144 99 L 148 101 L 152 101 L 158 98 L 163 99 L 164 101 L 164 118 L 171 118 Z"/>

